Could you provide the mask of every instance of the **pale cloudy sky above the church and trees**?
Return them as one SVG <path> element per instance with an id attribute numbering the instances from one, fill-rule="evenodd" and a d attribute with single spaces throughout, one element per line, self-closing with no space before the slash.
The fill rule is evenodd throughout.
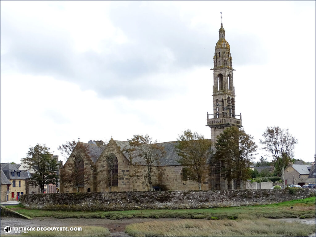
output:
<path id="1" fill-rule="evenodd" d="M 220 12 L 244 130 L 261 148 L 267 127 L 288 128 L 295 158 L 314 160 L 315 1 L 0 4 L 1 162 L 78 138 L 211 138 Z"/>

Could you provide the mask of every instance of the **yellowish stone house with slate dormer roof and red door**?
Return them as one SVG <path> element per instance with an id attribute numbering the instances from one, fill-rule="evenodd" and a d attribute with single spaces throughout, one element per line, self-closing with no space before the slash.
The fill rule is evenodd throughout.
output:
<path id="1" fill-rule="evenodd" d="M 20 166 L 20 164 L 1 163 L 4 175 L 12 183 L 12 185 L 9 185 L 7 201 L 18 200 L 26 191 L 25 181 L 27 178 L 24 176 L 25 173 L 19 169 Z"/>

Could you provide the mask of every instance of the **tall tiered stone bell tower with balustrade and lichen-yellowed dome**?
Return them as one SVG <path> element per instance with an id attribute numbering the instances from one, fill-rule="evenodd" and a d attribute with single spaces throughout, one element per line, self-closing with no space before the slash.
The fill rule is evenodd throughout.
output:
<path id="1" fill-rule="evenodd" d="M 207 125 L 211 129 L 213 147 L 216 137 L 230 126 L 242 127 L 241 113 L 235 112 L 235 87 L 233 77 L 233 59 L 230 55 L 230 47 L 225 39 L 225 29 L 221 23 L 219 40 L 215 46 L 213 57 L 213 114 L 207 112 Z M 213 118 L 210 116 L 213 115 Z M 236 118 L 239 116 L 239 119 Z"/>

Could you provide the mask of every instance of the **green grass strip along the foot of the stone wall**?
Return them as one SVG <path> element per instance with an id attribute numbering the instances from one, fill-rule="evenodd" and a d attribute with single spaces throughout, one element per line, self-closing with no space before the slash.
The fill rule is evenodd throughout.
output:
<path id="1" fill-rule="evenodd" d="M 23 206 L 7 206 L 29 217 L 50 216 L 63 218 L 109 218 L 111 220 L 121 218 L 183 218 L 203 219 L 253 219 L 253 218 L 315 218 L 315 197 L 292 200 L 277 204 L 222 207 L 209 209 L 184 209 L 184 210 L 129 210 L 129 211 L 49 211 L 26 209 Z M 293 208 L 291 208 L 293 207 Z M 216 218 L 215 218 L 216 217 Z"/>

